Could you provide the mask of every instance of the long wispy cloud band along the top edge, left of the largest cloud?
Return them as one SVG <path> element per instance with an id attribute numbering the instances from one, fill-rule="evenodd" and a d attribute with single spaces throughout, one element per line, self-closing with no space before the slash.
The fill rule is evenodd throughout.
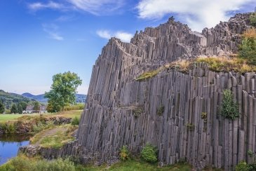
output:
<path id="1" fill-rule="evenodd" d="M 106 15 L 112 13 L 124 5 L 124 0 L 65 0 L 65 1 L 37 1 L 28 4 L 32 11 L 42 9 L 58 9 L 64 11 L 86 11 L 94 15 Z"/>

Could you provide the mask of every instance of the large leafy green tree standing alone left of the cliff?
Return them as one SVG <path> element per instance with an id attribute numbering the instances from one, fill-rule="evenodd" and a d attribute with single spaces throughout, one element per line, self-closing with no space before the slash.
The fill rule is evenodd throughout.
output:
<path id="1" fill-rule="evenodd" d="M 62 111 L 76 100 L 76 88 L 82 83 L 79 76 L 70 71 L 53 76 L 51 90 L 46 93 L 48 98 L 48 109 L 50 112 Z"/>

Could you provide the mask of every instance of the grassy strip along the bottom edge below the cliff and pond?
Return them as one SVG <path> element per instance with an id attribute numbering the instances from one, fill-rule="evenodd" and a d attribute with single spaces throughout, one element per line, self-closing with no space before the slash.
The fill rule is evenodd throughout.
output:
<path id="1" fill-rule="evenodd" d="M 121 161 L 119 163 L 115 163 L 114 165 L 107 166 L 83 166 L 83 165 L 74 165 L 74 163 L 70 161 L 63 161 L 56 162 L 56 160 L 43 160 L 39 157 L 36 158 L 27 158 L 24 155 L 20 155 L 12 160 L 9 160 L 8 163 L 1 165 L 0 170 L 6 170 L 6 168 L 13 168 L 13 170 L 19 170 L 22 168 L 23 170 L 42 170 L 40 165 L 43 165 L 44 168 L 48 167 L 48 169 L 57 170 L 67 170 L 66 168 L 69 167 L 70 170 L 77 170 L 77 171 L 103 171 L 103 170 L 112 170 L 112 171 L 143 171 L 143 170 L 154 170 L 154 171 L 174 171 L 174 170 L 181 170 L 181 171 L 189 171 L 191 167 L 186 164 L 179 164 L 179 165 L 170 165 L 166 167 L 158 167 L 157 164 L 149 164 L 142 160 L 135 159 L 135 160 L 128 160 L 128 161 Z M 50 167 L 49 167 L 50 166 Z M 60 168 L 62 167 L 62 168 Z"/>

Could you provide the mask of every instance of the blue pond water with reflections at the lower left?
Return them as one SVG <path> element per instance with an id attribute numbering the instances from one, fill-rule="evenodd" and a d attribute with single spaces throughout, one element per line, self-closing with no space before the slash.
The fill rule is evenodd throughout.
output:
<path id="1" fill-rule="evenodd" d="M 20 146 L 29 144 L 30 135 L 0 135 L 0 165 L 17 156 Z"/>

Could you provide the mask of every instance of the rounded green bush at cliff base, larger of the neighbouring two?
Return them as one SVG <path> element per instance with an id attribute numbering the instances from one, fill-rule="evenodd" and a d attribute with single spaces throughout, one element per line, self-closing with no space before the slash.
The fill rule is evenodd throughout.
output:
<path id="1" fill-rule="evenodd" d="M 157 161 L 157 150 L 156 146 L 152 146 L 151 144 L 146 144 L 141 151 L 142 159 L 149 163 L 156 163 Z"/>

